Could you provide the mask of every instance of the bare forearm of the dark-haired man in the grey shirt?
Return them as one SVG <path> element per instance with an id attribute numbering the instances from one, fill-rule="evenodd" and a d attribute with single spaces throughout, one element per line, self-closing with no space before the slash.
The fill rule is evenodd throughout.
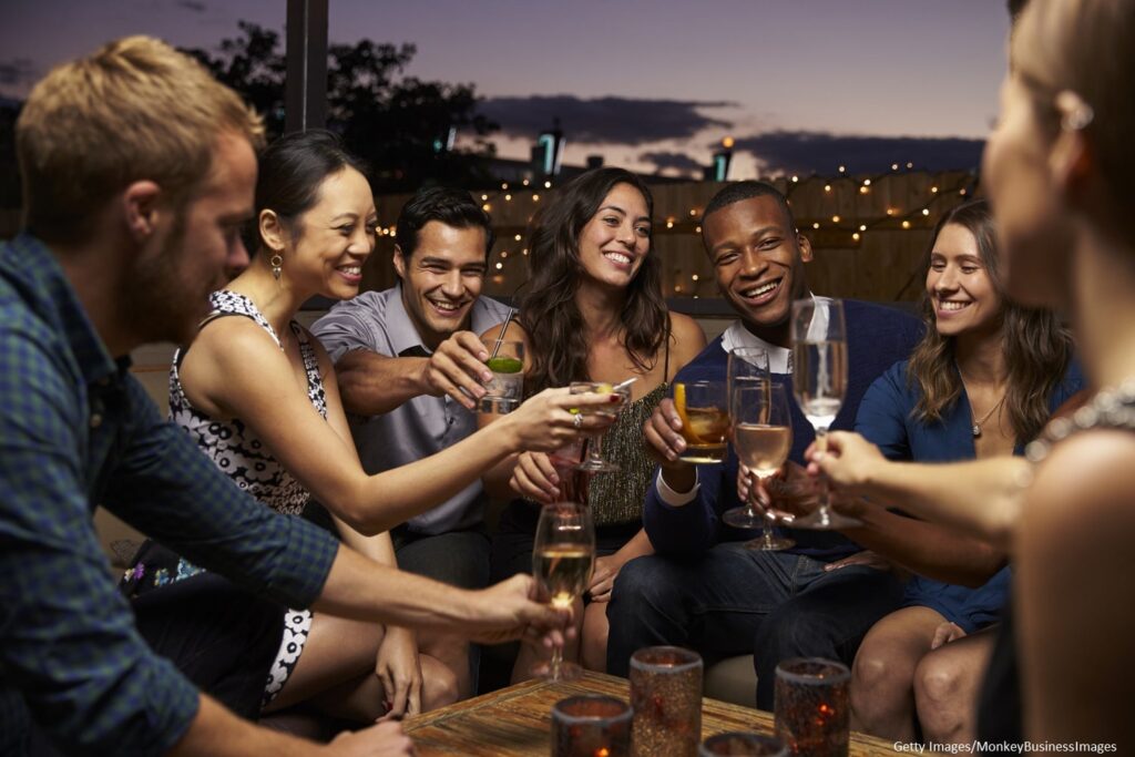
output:
<path id="1" fill-rule="evenodd" d="M 335 363 L 343 407 L 355 415 L 380 415 L 427 394 L 428 358 L 388 358 L 352 350 Z"/>

